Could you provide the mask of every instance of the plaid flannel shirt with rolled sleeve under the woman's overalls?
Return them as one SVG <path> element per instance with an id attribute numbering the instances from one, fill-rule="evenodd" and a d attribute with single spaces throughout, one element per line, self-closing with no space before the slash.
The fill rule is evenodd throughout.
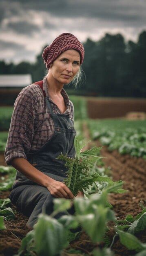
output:
<path id="1" fill-rule="evenodd" d="M 54 114 L 62 114 L 49 96 L 46 76 L 43 79 L 43 90 L 51 101 Z M 74 121 L 73 103 L 69 100 L 64 88 L 62 88 L 61 94 L 67 107 L 63 114 L 69 115 Z M 27 154 L 39 150 L 46 141 L 51 139 L 53 132 L 53 120 L 49 115 L 40 86 L 31 84 L 23 88 L 14 103 L 4 151 L 6 164 L 11 165 L 11 160 L 15 157 L 27 159 Z"/>

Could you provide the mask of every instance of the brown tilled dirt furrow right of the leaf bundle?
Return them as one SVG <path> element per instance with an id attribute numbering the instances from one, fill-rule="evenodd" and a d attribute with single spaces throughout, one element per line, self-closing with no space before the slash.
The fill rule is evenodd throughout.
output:
<path id="1" fill-rule="evenodd" d="M 96 141 L 96 144 L 101 146 L 99 141 Z M 140 200 L 143 202 L 146 200 L 146 171 L 144 169 L 146 160 L 130 155 L 120 155 L 117 150 L 108 151 L 107 146 L 103 146 L 101 154 L 107 157 L 103 158 L 103 162 L 106 167 L 111 166 L 113 180 L 123 180 L 125 182 L 123 188 L 128 190 L 128 193 L 112 193 L 109 197 L 116 216 L 120 218 L 125 218 L 128 214 L 136 216 L 141 212 Z"/>

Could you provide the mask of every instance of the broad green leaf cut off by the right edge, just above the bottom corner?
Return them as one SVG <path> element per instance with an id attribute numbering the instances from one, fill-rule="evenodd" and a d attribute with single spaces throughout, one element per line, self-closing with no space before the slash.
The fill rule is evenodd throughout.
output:
<path id="1" fill-rule="evenodd" d="M 138 220 L 135 220 L 131 227 L 129 227 L 128 232 L 135 234 L 139 231 L 146 229 L 146 213 L 144 213 Z"/>

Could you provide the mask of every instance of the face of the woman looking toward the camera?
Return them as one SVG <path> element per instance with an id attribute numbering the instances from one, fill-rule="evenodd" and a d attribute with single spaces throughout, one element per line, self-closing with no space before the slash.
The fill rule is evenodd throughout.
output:
<path id="1" fill-rule="evenodd" d="M 70 83 L 80 69 L 80 54 L 74 49 L 66 50 L 50 67 L 53 77 L 62 84 Z"/>

